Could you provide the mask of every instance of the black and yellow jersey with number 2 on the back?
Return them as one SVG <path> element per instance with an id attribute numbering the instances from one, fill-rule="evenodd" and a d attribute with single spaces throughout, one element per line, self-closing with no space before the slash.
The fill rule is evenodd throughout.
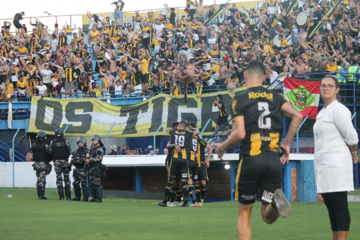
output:
<path id="1" fill-rule="evenodd" d="M 245 122 L 240 156 L 255 156 L 279 146 L 283 127 L 281 108 L 286 102 L 284 96 L 262 86 L 248 88 L 232 99 L 232 119 L 244 117 Z"/>

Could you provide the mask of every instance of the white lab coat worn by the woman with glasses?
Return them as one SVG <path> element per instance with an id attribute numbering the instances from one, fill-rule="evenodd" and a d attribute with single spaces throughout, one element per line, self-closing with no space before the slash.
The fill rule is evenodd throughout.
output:
<path id="1" fill-rule="evenodd" d="M 353 161 L 348 145 L 358 143 L 349 109 L 334 100 L 316 116 L 315 181 L 317 193 L 354 191 Z"/>

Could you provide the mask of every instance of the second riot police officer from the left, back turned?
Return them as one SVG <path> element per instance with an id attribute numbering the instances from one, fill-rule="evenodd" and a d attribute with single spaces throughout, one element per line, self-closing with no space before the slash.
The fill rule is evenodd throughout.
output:
<path id="1" fill-rule="evenodd" d="M 55 140 L 51 141 L 49 152 L 54 161 L 54 169 L 56 172 L 56 185 L 59 192 L 59 200 L 64 200 L 64 187 L 62 185 L 62 175 L 64 175 L 65 182 L 65 196 L 66 200 L 71 200 L 71 183 L 70 183 L 70 170 L 69 156 L 71 154 L 70 142 L 64 139 L 64 131 L 57 128 L 54 132 Z M 65 168 L 64 168 L 65 167 Z"/>

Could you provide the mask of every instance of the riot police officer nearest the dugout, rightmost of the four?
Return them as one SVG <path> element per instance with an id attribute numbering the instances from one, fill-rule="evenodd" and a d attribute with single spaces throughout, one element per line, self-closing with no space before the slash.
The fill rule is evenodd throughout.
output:
<path id="1" fill-rule="evenodd" d="M 102 201 L 102 190 L 101 190 L 101 161 L 104 155 L 104 144 L 101 142 L 101 137 L 93 135 L 91 137 L 92 146 L 90 152 L 86 154 L 89 158 L 86 162 L 90 167 L 90 188 L 92 192 L 92 199 L 90 202 L 101 202 Z"/>

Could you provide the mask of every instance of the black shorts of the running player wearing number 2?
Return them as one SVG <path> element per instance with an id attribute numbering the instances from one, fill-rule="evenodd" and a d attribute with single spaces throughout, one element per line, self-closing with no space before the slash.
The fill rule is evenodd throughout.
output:
<path id="1" fill-rule="evenodd" d="M 235 181 L 235 200 L 255 202 L 260 190 L 263 204 L 271 203 L 276 189 L 281 189 L 281 162 L 277 152 L 265 151 L 256 156 L 242 155 Z"/>

